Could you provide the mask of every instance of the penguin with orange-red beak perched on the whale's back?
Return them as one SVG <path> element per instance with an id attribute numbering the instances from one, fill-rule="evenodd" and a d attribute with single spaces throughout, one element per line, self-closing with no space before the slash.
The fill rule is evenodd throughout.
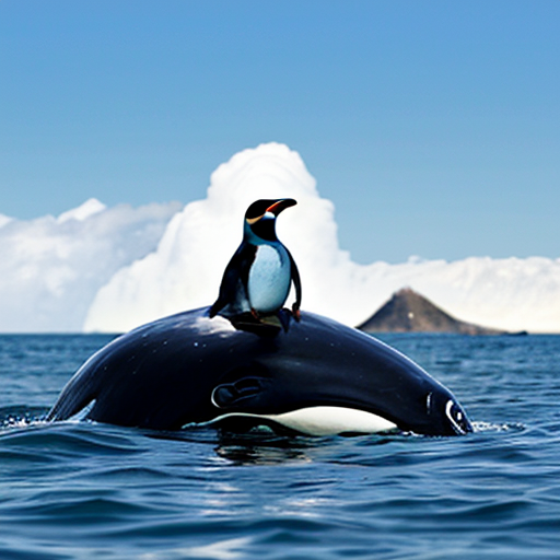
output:
<path id="1" fill-rule="evenodd" d="M 245 212 L 243 241 L 225 267 L 218 300 L 210 317 L 235 318 L 250 314 L 257 322 L 278 317 L 288 329 L 288 310 L 282 310 L 293 282 L 292 316 L 300 320 L 302 285 L 295 261 L 276 235 L 276 219 L 296 205 L 292 198 L 257 200 Z"/>

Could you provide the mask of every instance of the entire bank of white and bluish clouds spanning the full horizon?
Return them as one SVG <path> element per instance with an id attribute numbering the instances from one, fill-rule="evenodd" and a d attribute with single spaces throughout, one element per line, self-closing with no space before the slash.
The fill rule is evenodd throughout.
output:
<path id="1" fill-rule="evenodd" d="M 338 245 L 332 203 L 300 155 L 277 143 L 235 154 L 212 174 L 207 198 L 185 207 L 90 199 L 58 218 L 0 214 L 0 331 L 124 331 L 209 305 L 246 208 L 282 197 L 298 200 L 278 235 L 299 265 L 304 310 L 358 325 L 410 287 L 464 320 L 560 332 L 560 259 L 358 265 Z"/>

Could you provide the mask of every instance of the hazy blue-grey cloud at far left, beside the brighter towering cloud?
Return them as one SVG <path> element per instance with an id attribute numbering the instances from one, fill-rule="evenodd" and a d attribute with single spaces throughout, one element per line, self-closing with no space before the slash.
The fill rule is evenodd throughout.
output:
<path id="1" fill-rule="evenodd" d="M 80 331 L 97 290 L 154 250 L 179 208 L 90 199 L 58 218 L 0 217 L 0 330 Z"/>

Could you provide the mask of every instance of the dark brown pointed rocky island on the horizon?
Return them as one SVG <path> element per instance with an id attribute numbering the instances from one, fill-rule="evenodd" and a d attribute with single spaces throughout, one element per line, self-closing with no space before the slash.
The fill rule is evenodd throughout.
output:
<path id="1" fill-rule="evenodd" d="M 410 288 L 394 293 L 387 303 L 358 328 L 366 332 L 504 334 L 503 330 L 456 319 Z"/>

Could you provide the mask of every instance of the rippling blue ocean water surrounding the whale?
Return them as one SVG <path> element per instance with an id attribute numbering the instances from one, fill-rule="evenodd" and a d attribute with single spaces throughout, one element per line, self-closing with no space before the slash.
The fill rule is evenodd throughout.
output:
<path id="1" fill-rule="evenodd" d="M 462 438 L 42 421 L 110 336 L 0 336 L 0 559 L 560 559 L 560 336 L 384 335 Z"/>

